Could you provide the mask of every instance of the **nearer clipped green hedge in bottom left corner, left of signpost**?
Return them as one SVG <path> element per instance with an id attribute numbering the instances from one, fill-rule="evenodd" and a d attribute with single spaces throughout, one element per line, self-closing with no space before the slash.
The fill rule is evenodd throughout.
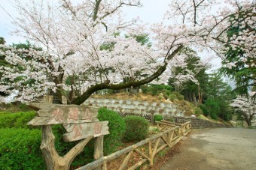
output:
<path id="1" fill-rule="evenodd" d="M 45 169 L 41 130 L 0 129 L 1 169 Z"/>

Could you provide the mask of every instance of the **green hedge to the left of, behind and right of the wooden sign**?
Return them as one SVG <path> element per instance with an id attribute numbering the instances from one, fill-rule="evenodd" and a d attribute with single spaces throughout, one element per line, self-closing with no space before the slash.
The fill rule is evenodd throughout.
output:
<path id="1" fill-rule="evenodd" d="M 26 124 L 36 115 L 35 112 L 0 112 L 0 167 L 3 169 L 44 169 L 44 159 L 41 156 L 41 129 L 32 129 Z M 122 145 L 121 139 L 125 131 L 123 118 L 116 112 L 99 109 L 99 121 L 108 121 L 109 132 L 104 136 L 104 154 L 117 151 Z M 11 128 L 12 127 L 12 128 Z M 53 125 L 56 151 L 64 156 L 78 142 L 64 142 L 62 125 Z M 5 128 L 5 129 L 4 129 Z M 13 136 L 13 137 L 12 137 Z M 93 161 L 94 140 L 84 148 L 84 152 L 75 157 L 72 167 L 83 166 Z M 5 166 L 3 166 L 6 164 Z M 15 164 L 15 165 L 14 165 Z M 0 169 L 1 169 L 0 168 Z"/>

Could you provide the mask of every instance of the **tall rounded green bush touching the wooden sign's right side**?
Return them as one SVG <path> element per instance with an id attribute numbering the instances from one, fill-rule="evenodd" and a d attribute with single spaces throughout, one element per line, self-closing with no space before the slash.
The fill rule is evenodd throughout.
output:
<path id="1" fill-rule="evenodd" d="M 117 148 L 122 145 L 121 139 L 125 132 L 125 123 L 123 118 L 117 112 L 106 108 L 99 109 L 99 121 L 108 121 L 109 135 L 104 136 L 104 155 L 108 155 L 117 151 Z"/>

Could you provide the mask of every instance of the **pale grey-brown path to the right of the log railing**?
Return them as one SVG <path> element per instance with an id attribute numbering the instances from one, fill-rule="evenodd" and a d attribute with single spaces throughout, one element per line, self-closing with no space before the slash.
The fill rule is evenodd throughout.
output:
<path id="1" fill-rule="evenodd" d="M 194 130 L 160 170 L 256 170 L 256 130 Z"/>

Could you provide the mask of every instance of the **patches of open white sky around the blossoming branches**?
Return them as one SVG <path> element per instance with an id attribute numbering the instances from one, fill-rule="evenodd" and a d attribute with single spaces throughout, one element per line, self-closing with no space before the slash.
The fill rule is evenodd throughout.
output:
<path id="1" fill-rule="evenodd" d="M 14 7 L 12 7 L 10 0 L 1 0 L 0 5 L 5 8 L 12 16 L 17 16 Z M 143 22 L 155 23 L 160 22 L 163 19 L 164 13 L 168 9 L 168 2 L 166 0 L 142 0 L 143 7 L 129 7 L 124 11 L 127 18 L 134 18 L 139 16 Z M 11 43 L 23 43 L 26 40 L 23 37 L 17 37 L 11 35 L 10 32 L 14 30 L 14 25 L 11 23 L 11 18 L 0 7 L 0 37 L 4 37 L 7 44 Z M 203 56 L 204 55 L 204 56 Z M 207 58 L 206 52 L 200 54 L 201 58 Z M 212 69 L 216 69 L 221 66 L 221 59 L 215 58 L 211 61 Z"/>

